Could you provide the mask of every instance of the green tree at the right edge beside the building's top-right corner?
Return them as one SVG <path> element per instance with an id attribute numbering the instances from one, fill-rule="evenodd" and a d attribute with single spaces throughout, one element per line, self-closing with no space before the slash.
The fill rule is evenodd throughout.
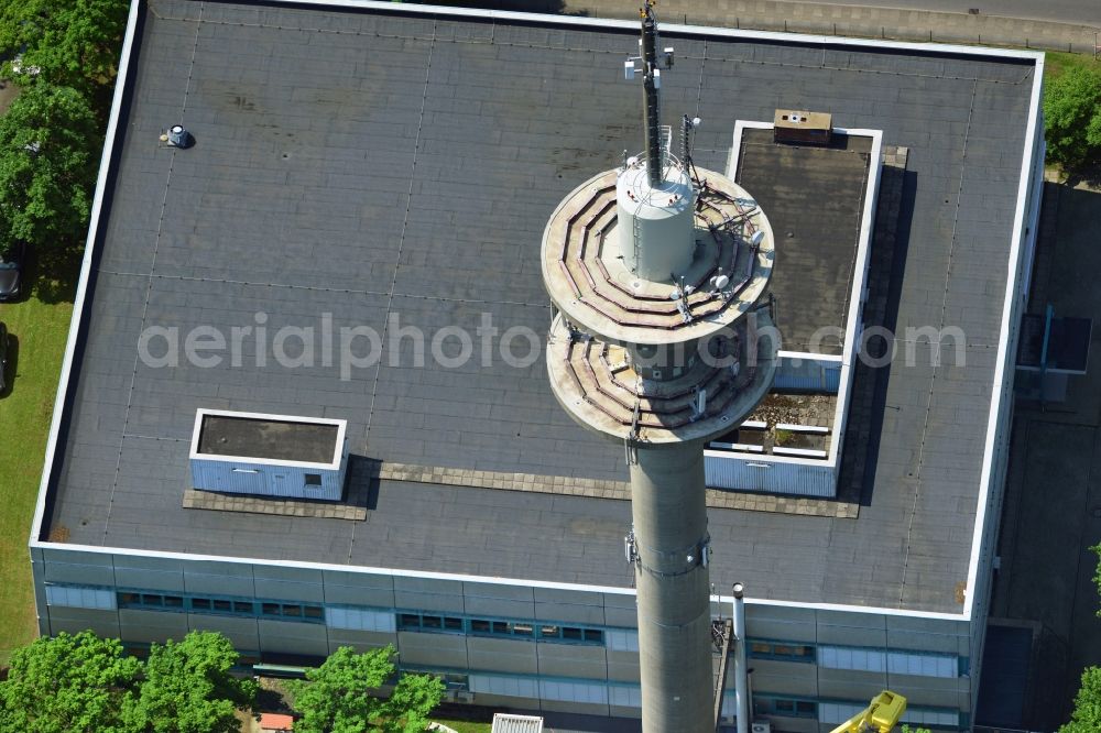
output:
<path id="1" fill-rule="evenodd" d="M 1076 167 L 1101 153 L 1101 72 L 1079 66 L 1044 92 L 1047 157 Z"/>

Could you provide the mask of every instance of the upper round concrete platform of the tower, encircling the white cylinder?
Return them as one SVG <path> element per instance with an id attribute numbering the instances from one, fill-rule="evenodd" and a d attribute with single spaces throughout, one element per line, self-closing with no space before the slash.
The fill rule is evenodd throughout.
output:
<path id="1" fill-rule="evenodd" d="M 705 338 L 737 321 L 764 294 L 775 261 L 772 227 L 756 201 L 718 173 L 698 169 L 695 252 L 685 272 L 646 280 L 631 272 L 617 231 L 617 177 L 606 171 L 575 188 L 543 232 L 543 280 L 576 327 L 613 343 Z M 716 277 L 727 282 L 716 286 Z"/>

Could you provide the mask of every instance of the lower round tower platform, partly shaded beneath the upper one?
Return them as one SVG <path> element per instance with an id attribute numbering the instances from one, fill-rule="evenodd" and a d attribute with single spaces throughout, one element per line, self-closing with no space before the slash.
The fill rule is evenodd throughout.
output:
<path id="1" fill-rule="evenodd" d="M 688 359 L 678 378 L 658 381 L 643 378 L 624 347 L 571 330 L 559 315 L 547 346 L 550 389 L 570 417 L 606 437 L 658 448 L 708 440 L 745 419 L 772 386 L 778 343 L 770 332 L 767 310 L 756 310 L 700 346 L 707 355 Z"/>

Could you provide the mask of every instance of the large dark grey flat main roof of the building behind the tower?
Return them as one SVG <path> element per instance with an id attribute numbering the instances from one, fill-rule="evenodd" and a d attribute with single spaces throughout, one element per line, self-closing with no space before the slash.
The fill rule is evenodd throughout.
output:
<path id="1" fill-rule="evenodd" d="M 716 587 L 737 578 L 759 598 L 961 611 L 1034 64 L 665 40 L 677 50 L 666 121 L 706 120 L 702 166 L 722 169 L 735 119 L 776 107 L 828 110 L 908 146 L 898 326 L 967 333 L 966 368 L 950 353 L 934 368 L 918 344 L 916 365 L 881 380 L 882 427 L 846 446 L 877 444 L 858 519 L 711 511 Z M 240 366 L 153 368 L 138 343 L 152 326 L 183 339 L 261 320 L 269 338 L 326 318 L 384 332 L 395 315 L 429 337 L 446 325 L 473 333 L 482 314 L 502 331 L 545 333 L 549 214 L 642 146 L 641 92 L 620 72 L 634 32 L 152 0 L 135 48 L 42 537 L 64 527 L 94 546 L 629 587 L 625 502 L 370 486 L 353 462 L 350 485 L 372 506 L 363 523 L 181 506 L 201 407 L 347 419 L 351 453 L 372 459 L 624 479 L 622 447 L 569 422 L 539 361 L 411 368 L 405 339 L 406 365 L 384 349 L 341 380 L 338 359 L 290 368 L 269 355 L 258 368 L 248 339 Z M 177 122 L 195 147 L 159 142 Z"/>

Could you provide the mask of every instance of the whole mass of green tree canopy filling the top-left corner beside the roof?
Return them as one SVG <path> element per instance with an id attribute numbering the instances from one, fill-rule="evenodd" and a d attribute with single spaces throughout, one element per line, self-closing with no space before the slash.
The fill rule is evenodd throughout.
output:
<path id="1" fill-rule="evenodd" d="M 19 87 L 0 117 L 0 251 L 22 240 L 64 258 L 83 243 L 128 9 L 0 2 L 0 78 Z"/>

